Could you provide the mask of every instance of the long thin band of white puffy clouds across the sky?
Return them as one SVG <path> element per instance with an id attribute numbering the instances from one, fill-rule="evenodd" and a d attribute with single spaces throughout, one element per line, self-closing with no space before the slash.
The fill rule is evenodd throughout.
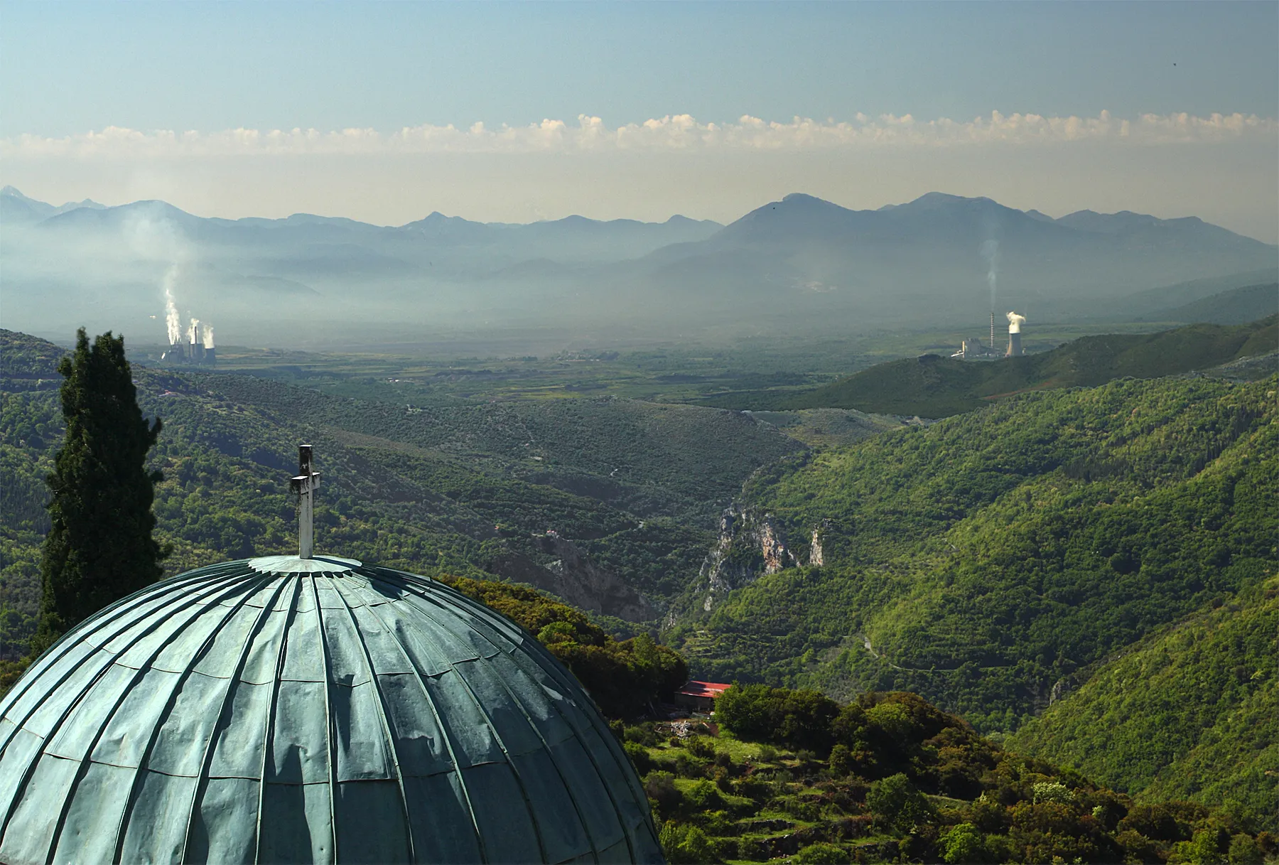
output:
<path id="1" fill-rule="evenodd" d="M 107 127 L 100 132 L 50 138 L 23 134 L 0 139 L 0 159 L 164 159 L 183 156 L 257 155 L 390 155 L 390 154 L 536 154 L 536 152 L 680 152 L 756 151 L 806 152 L 854 147 L 966 147 L 975 145 L 1050 145 L 1109 141 L 1129 146 L 1271 141 L 1279 120 L 1244 114 L 1142 114 L 1119 119 L 1102 111 L 1095 118 L 1039 114 L 990 116 L 961 122 L 918 120 L 909 114 L 867 116 L 851 122 L 794 118 L 764 120 L 743 115 L 735 123 L 702 123 L 688 114 L 652 118 L 610 128 L 591 115 L 576 125 L 545 119 L 526 127 L 468 128 L 449 125 L 376 129 L 226 129 L 223 132 L 139 132 Z"/>

